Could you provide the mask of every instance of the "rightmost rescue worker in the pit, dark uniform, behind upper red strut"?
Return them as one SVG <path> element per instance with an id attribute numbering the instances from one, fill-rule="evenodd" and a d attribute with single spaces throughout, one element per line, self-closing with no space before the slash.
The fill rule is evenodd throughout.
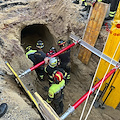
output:
<path id="1" fill-rule="evenodd" d="M 65 47 L 65 41 L 63 40 L 58 40 L 58 46 L 62 50 Z M 70 49 L 65 51 L 64 53 L 60 54 L 59 56 L 60 59 L 60 67 L 63 68 L 67 72 L 67 82 L 70 80 Z"/>

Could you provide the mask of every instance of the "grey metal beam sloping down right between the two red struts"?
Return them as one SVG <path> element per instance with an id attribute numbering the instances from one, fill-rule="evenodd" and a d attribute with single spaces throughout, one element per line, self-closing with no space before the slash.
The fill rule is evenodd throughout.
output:
<path id="1" fill-rule="evenodd" d="M 89 45 L 88 43 L 86 43 L 85 41 L 83 41 L 82 39 L 79 39 L 79 37 L 75 36 L 75 35 L 70 35 L 70 38 L 72 38 L 74 41 L 79 41 L 79 44 L 82 45 L 83 47 L 87 48 L 88 50 L 90 50 L 92 53 L 94 53 L 95 55 L 99 56 L 100 58 L 104 59 L 107 62 L 111 62 L 111 58 L 108 57 L 107 55 L 103 54 L 101 51 L 99 51 L 98 49 L 96 49 L 95 47 Z M 116 66 L 116 64 L 119 63 L 115 60 L 112 60 L 111 64 L 113 66 Z"/>

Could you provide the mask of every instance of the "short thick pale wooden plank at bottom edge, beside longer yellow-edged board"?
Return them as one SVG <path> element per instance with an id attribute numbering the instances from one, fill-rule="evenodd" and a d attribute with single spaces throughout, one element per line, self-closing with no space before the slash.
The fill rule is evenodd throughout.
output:
<path id="1" fill-rule="evenodd" d="M 34 94 L 38 101 L 39 108 L 42 111 L 41 114 L 44 117 L 44 119 L 45 120 L 60 120 L 59 116 L 56 114 L 53 108 L 46 101 L 44 101 L 37 92 L 35 92 Z"/>

